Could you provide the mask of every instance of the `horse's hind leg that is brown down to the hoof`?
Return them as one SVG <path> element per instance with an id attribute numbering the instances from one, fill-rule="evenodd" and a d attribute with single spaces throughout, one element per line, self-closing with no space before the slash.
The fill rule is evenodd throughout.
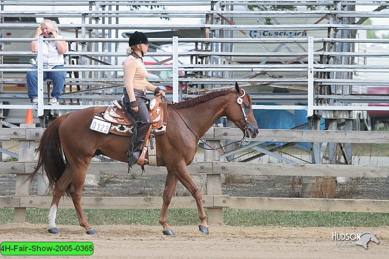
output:
<path id="1" fill-rule="evenodd" d="M 87 230 L 87 234 L 97 234 L 97 231 L 92 228 L 87 219 L 85 218 L 84 211 L 81 206 L 81 194 L 82 188 L 84 186 L 85 177 L 87 176 L 88 164 L 79 166 L 77 170 L 73 168 L 73 178 L 70 187 L 71 199 L 73 200 L 74 208 L 76 209 L 78 222 L 80 226 L 84 227 Z"/>

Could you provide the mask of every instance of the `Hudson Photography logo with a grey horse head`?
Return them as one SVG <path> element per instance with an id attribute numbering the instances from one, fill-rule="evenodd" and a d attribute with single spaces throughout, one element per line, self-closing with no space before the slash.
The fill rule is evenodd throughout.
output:
<path id="1" fill-rule="evenodd" d="M 364 231 L 361 233 L 337 233 L 332 232 L 332 240 L 335 241 L 335 245 L 346 245 L 354 246 L 361 245 L 368 249 L 368 243 L 370 241 L 379 243 L 378 239 L 375 237 L 371 231 Z"/>

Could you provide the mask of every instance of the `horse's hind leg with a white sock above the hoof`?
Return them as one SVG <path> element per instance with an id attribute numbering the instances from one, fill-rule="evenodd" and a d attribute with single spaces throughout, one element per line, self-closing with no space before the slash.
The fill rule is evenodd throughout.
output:
<path id="1" fill-rule="evenodd" d="M 57 215 L 57 208 L 59 204 L 59 200 L 62 195 L 65 193 L 66 189 L 71 183 L 72 171 L 69 165 L 66 166 L 65 171 L 62 173 L 58 182 L 55 184 L 52 205 L 50 206 L 49 212 L 49 233 L 51 234 L 59 234 L 59 231 L 55 225 L 55 217 Z"/>

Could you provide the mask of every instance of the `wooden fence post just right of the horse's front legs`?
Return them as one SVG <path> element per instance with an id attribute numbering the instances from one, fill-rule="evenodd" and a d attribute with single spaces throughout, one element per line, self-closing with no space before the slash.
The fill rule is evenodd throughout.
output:
<path id="1" fill-rule="evenodd" d="M 213 148 L 220 148 L 220 140 L 207 140 Z M 220 161 L 220 153 L 215 150 L 206 150 L 206 161 Z M 222 194 L 222 178 L 220 174 L 207 174 L 207 195 Z M 223 208 L 208 208 L 208 223 L 223 222 Z"/>

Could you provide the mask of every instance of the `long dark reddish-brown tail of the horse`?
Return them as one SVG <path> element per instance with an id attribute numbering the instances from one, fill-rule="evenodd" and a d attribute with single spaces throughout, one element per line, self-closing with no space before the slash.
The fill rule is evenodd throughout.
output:
<path id="1" fill-rule="evenodd" d="M 49 179 L 49 190 L 53 191 L 55 184 L 65 171 L 66 165 L 62 155 L 62 145 L 58 129 L 59 125 L 66 119 L 66 117 L 68 117 L 68 114 L 55 119 L 43 132 L 38 147 L 38 164 L 36 165 L 34 172 L 28 178 L 30 180 L 30 184 L 36 173 L 38 173 L 38 171 L 42 168 Z M 69 188 L 66 190 L 66 194 L 69 195 Z"/>

